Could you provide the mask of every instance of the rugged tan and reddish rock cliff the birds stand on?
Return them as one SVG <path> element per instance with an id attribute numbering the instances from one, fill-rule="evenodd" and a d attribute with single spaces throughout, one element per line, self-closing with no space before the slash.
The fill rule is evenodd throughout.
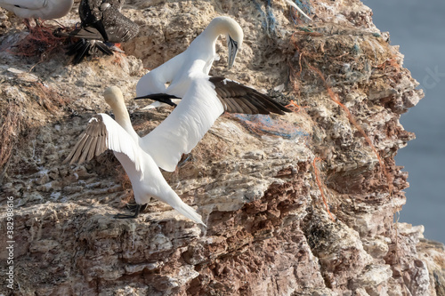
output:
<path id="1" fill-rule="evenodd" d="M 78 21 L 77 5 L 61 24 Z M 302 7 L 312 22 L 281 1 L 128 0 L 124 13 L 141 30 L 125 55 L 77 66 L 61 44 L 25 56 L 17 44 L 28 33 L 0 9 L 0 202 L 15 204 L 13 290 L 0 292 L 445 295 L 443 245 L 396 222 L 409 184 L 393 157 L 414 138 L 399 118 L 423 93 L 360 1 Z M 114 219 L 132 189 L 112 153 L 62 160 L 88 119 L 109 112 L 101 93 L 110 85 L 125 93 L 140 134 L 166 118 L 171 108 L 140 110 L 135 84 L 218 15 L 239 21 L 245 43 L 227 70 L 220 38 L 211 74 L 293 101 L 295 112 L 222 116 L 164 172 L 207 228 L 157 201 L 135 220 Z"/>

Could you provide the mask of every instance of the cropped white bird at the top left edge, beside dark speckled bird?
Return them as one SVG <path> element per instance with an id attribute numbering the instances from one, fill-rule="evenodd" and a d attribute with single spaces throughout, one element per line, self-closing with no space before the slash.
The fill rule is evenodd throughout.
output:
<path id="1" fill-rule="evenodd" d="M 67 15 L 73 2 L 74 0 L 0 0 L 0 7 L 23 19 L 52 20 Z"/>

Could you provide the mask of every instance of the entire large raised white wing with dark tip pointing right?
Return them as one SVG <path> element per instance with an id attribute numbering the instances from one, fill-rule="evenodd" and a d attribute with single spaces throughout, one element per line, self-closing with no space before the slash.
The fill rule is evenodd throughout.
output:
<path id="1" fill-rule="evenodd" d="M 203 76 L 193 79 L 170 116 L 142 138 L 142 148 L 160 168 L 173 172 L 182 154 L 195 148 L 224 111 L 281 115 L 291 112 L 253 88 L 223 77 Z"/>

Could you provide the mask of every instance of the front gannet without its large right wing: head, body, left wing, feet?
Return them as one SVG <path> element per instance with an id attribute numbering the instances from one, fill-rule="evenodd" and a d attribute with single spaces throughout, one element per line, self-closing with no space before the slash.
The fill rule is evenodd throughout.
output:
<path id="1" fill-rule="evenodd" d="M 64 164 L 82 164 L 93 156 L 98 156 L 107 149 L 113 150 L 117 160 L 122 164 L 130 178 L 134 200 L 136 201 L 134 215 L 117 215 L 117 218 L 136 217 L 142 204 L 150 202 L 150 196 L 170 204 L 174 210 L 182 213 L 190 220 L 205 225 L 201 216 L 181 198 L 168 185 L 164 176 L 154 162 L 138 144 L 139 136 L 134 132 L 130 116 L 125 108 L 122 92 L 117 86 L 109 87 L 104 97 L 113 109 L 116 121 L 106 114 L 98 114 L 90 119 L 85 132 L 82 133 L 76 146 L 71 150 Z M 158 143 L 152 143 L 157 145 Z"/>

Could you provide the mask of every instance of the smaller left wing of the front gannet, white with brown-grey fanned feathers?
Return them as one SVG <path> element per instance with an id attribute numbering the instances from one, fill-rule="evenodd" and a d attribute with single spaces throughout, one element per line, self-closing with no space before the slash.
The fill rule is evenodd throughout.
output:
<path id="1" fill-rule="evenodd" d="M 134 162 L 136 171 L 142 172 L 141 148 L 110 116 L 103 113 L 93 116 L 79 138 L 63 164 L 82 164 L 111 149 L 128 156 Z"/>

